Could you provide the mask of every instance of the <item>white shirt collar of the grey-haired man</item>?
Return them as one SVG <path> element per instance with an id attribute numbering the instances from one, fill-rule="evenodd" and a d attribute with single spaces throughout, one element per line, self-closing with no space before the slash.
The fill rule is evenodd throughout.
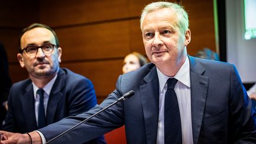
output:
<path id="1" fill-rule="evenodd" d="M 157 67 L 156 67 L 156 72 L 158 73 L 159 88 L 160 88 L 160 91 L 162 92 L 167 80 L 171 77 L 164 75 L 164 73 L 162 73 Z M 176 73 L 176 75 L 173 78 L 177 79 L 182 84 L 190 88 L 190 65 L 189 65 L 188 56 L 186 57 L 185 62 L 181 66 L 180 70 Z"/>

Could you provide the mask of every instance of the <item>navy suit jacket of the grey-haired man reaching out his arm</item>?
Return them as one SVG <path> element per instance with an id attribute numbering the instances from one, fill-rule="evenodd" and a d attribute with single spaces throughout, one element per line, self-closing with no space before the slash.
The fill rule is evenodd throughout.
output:
<path id="1" fill-rule="evenodd" d="M 255 113 L 235 66 L 212 60 L 190 60 L 193 143 L 256 143 Z M 82 143 L 125 124 L 127 143 L 156 143 L 159 116 L 159 81 L 152 63 L 121 75 L 116 90 L 87 113 L 50 124 L 40 132 L 52 139 L 70 126 L 134 90 L 128 100 L 63 135 L 56 143 Z"/>

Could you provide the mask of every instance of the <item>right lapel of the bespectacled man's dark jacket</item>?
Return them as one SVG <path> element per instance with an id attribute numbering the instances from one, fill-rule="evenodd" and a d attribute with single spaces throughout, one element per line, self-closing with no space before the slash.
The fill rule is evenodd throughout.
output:
<path id="1" fill-rule="evenodd" d="M 62 97 L 61 89 L 65 85 L 65 72 L 60 68 L 57 74 L 55 83 L 53 84 L 52 90 L 49 95 L 49 100 L 46 110 L 46 124 L 52 124 L 54 122 L 57 105 L 60 98 Z"/>

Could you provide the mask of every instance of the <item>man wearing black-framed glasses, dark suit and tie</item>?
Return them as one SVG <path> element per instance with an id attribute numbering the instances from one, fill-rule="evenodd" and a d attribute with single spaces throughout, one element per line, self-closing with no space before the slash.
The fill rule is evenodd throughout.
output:
<path id="1" fill-rule="evenodd" d="M 30 78 L 12 86 L 3 130 L 32 132 L 97 104 L 89 79 L 59 67 L 62 49 L 52 28 L 43 24 L 24 28 L 19 45 L 17 58 Z M 104 143 L 104 137 L 88 143 Z"/>

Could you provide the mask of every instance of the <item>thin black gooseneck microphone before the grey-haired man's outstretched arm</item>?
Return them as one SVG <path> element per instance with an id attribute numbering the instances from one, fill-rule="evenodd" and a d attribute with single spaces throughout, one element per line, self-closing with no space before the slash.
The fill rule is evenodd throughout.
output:
<path id="1" fill-rule="evenodd" d="M 66 130 L 65 132 L 63 133 L 60 133 L 60 135 L 57 135 L 56 137 L 54 137 L 53 139 L 49 140 L 47 143 L 51 143 L 53 142 L 54 140 L 56 140 L 57 138 L 59 138 L 60 136 L 64 135 L 65 133 L 68 133 L 69 131 L 75 129 L 75 127 L 79 126 L 80 124 L 82 123 L 85 123 L 86 121 L 88 121 L 89 119 L 91 119 L 92 117 L 96 116 L 97 114 L 101 113 L 102 111 L 104 111 L 105 109 L 111 107 L 112 105 L 118 103 L 119 101 L 124 101 L 124 100 L 127 100 L 128 98 L 132 97 L 133 95 L 135 94 L 135 91 L 129 91 L 127 92 L 126 94 L 124 94 L 123 96 L 121 96 L 117 101 L 115 101 L 114 103 L 108 105 L 107 107 L 103 108 L 102 110 L 98 111 L 97 113 L 93 114 L 92 116 L 88 117 L 87 119 L 81 121 L 80 123 L 76 124 L 75 126 L 71 127 L 70 129 Z"/>

